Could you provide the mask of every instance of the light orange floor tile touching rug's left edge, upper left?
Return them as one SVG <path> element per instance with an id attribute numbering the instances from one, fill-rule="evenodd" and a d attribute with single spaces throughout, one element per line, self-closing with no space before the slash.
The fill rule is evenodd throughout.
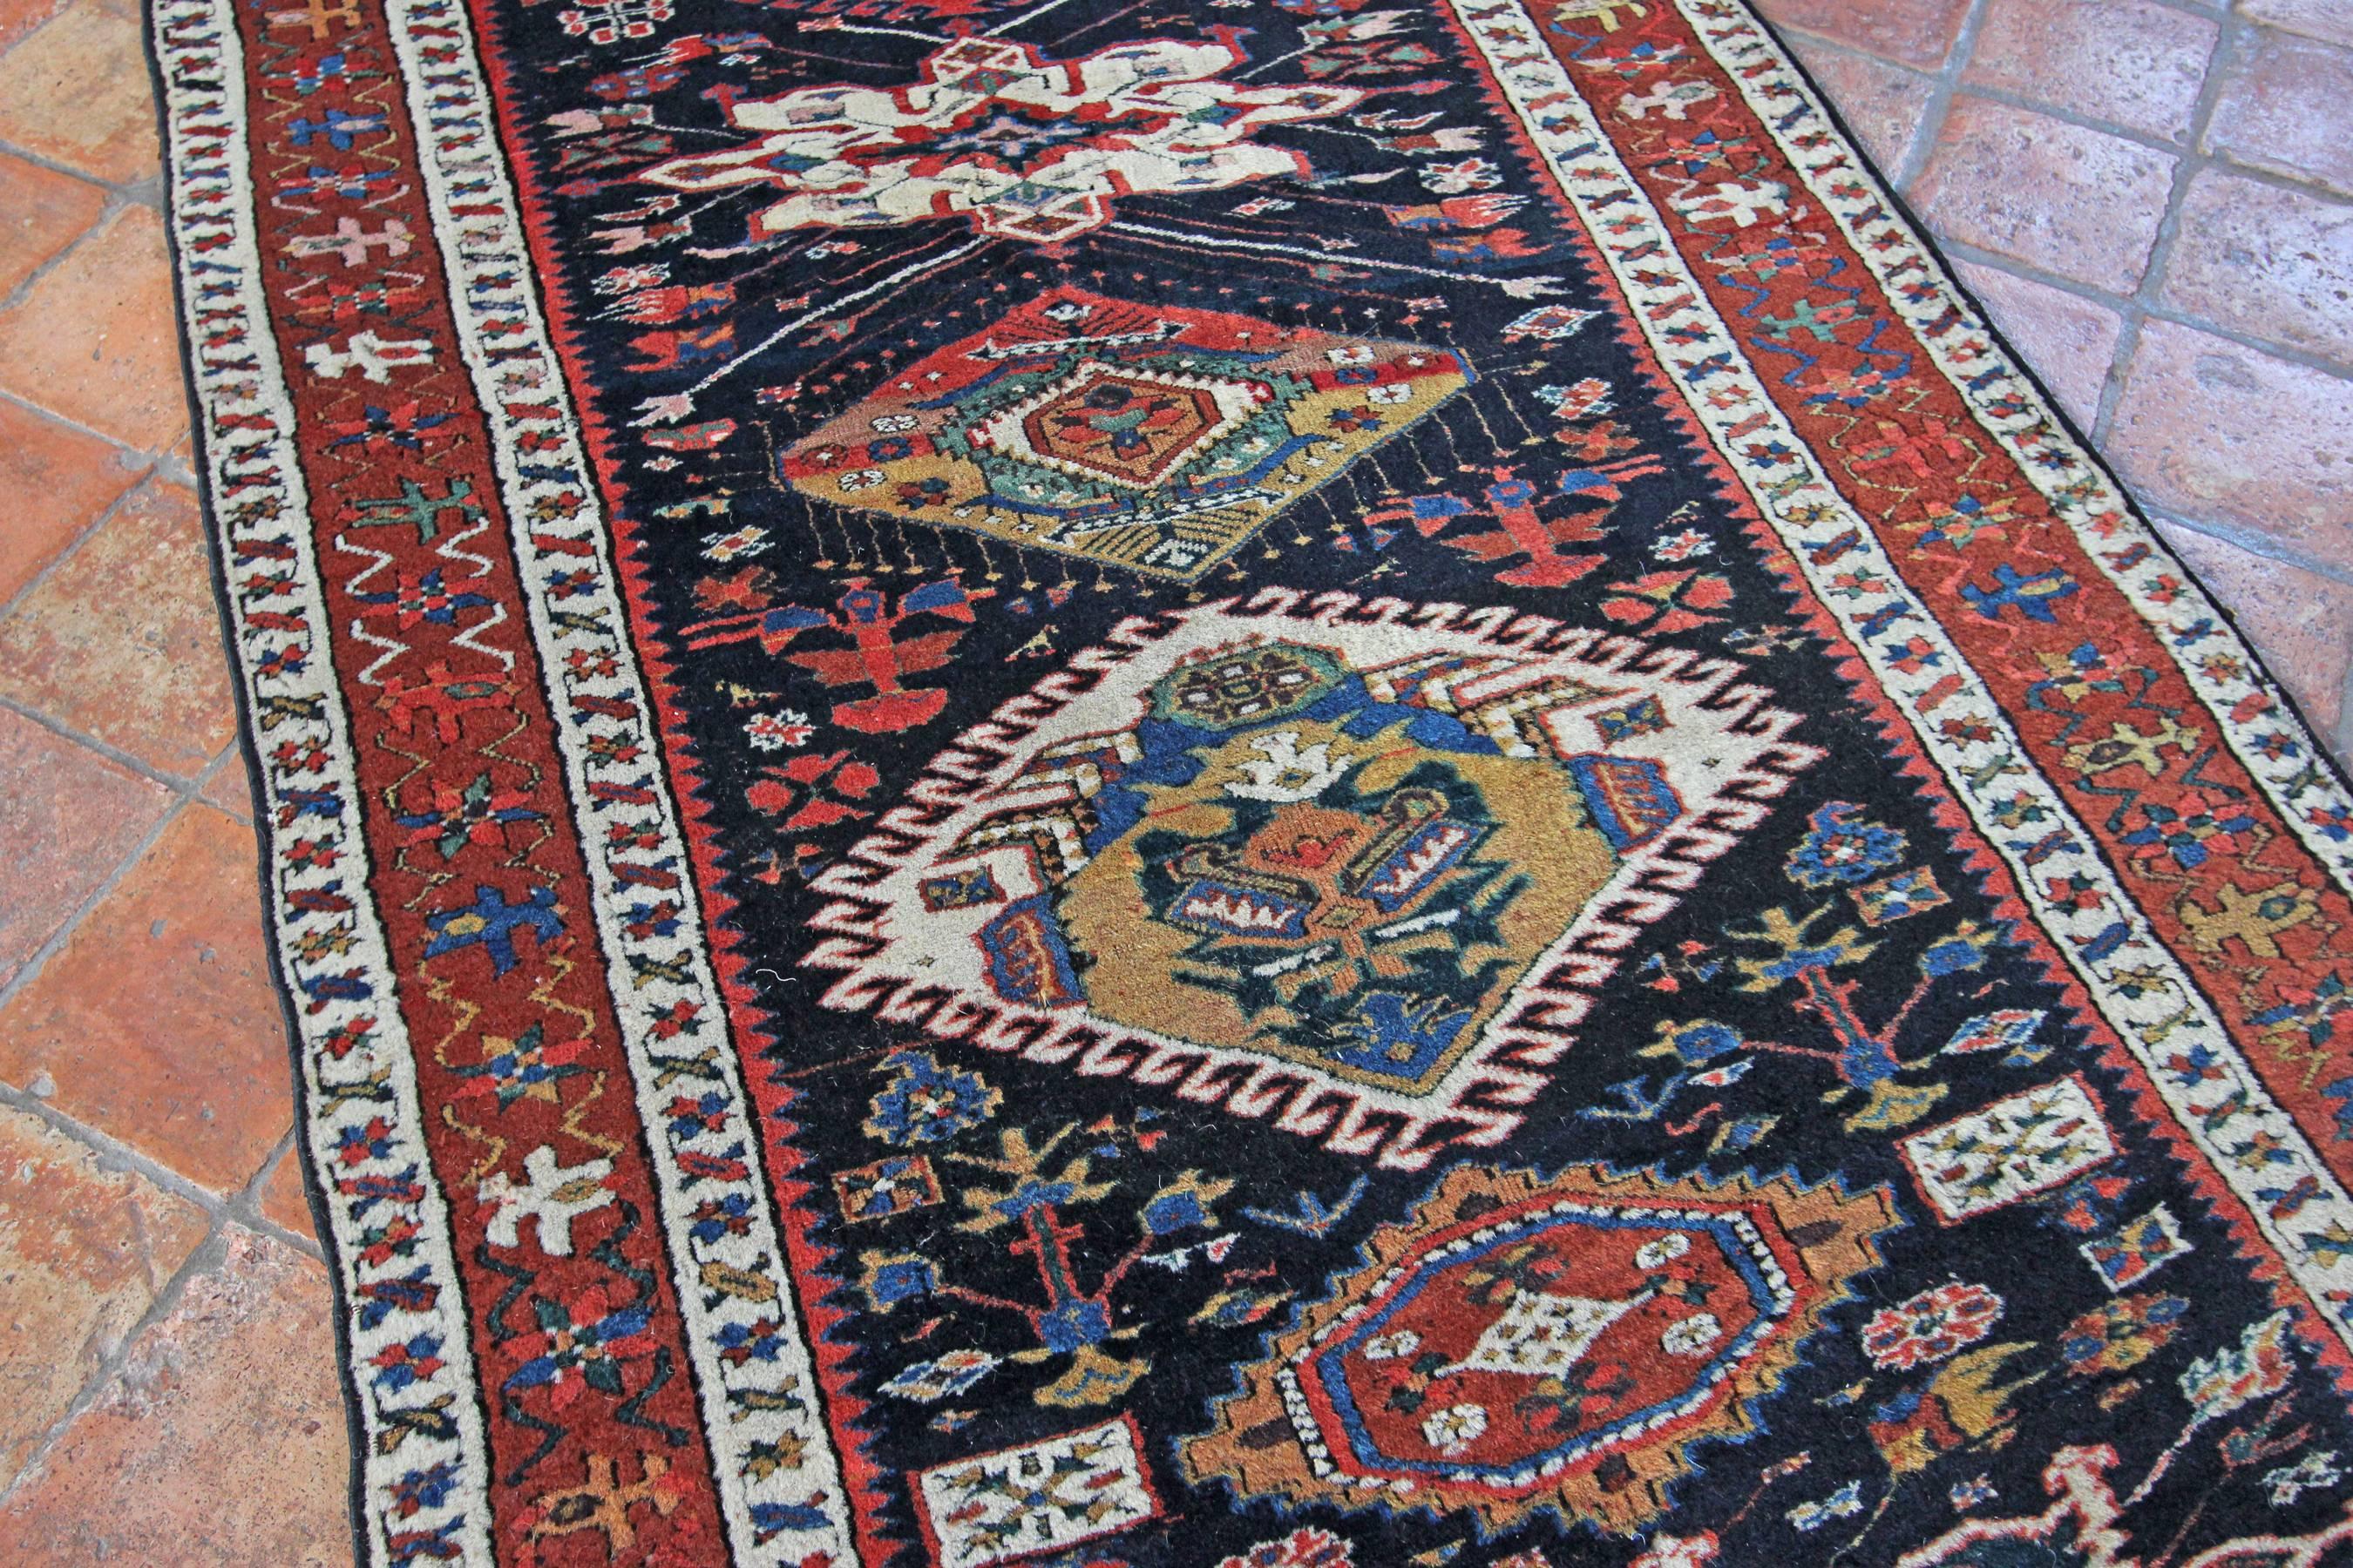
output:
<path id="1" fill-rule="evenodd" d="M 125 207 L 0 313 L 0 386 L 127 447 L 169 447 L 188 428 L 172 313 L 162 219 Z"/>

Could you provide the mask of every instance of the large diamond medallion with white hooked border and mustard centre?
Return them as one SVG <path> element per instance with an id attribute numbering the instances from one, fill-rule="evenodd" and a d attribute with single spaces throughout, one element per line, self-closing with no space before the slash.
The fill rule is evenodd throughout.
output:
<path id="1" fill-rule="evenodd" d="M 1661 889 L 1817 752 L 1729 665 L 1344 611 L 1129 623 L 1085 696 L 944 752 L 920 816 L 814 879 L 821 1001 L 1407 1168 L 1438 1124 L 1508 1133 Z M 1659 729 L 1600 722 L 1638 696 Z"/>

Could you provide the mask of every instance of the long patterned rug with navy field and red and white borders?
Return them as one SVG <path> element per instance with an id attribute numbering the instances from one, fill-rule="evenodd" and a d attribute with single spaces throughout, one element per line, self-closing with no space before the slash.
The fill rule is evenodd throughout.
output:
<path id="1" fill-rule="evenodd" d="M 2353 1559 L 2346 780 L 1744 5 L 153 42 L 362 1561 Z"/>

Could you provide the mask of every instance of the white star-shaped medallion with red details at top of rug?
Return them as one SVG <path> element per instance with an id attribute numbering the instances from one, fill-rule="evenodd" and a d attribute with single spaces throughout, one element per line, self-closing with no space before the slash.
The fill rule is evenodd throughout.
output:
<path id="1" fill-rule="evenodd" d="M 753 233 L 871 228 L 967 214 L 984 235 L 1052 244 L 1111 221 L 1113 195 L 1221 190 L 1306 174 L 1252 136 L 1337 115 L 1353 87 L 1238 87 L 1231 42 L 1167 38 L 1054 61 L 998 38 L 934 52 L 908 87 L 838 82 L 729 99 L 758 141 L 673 158 L 645 179 L 678 190 L 779 186 Z"/>

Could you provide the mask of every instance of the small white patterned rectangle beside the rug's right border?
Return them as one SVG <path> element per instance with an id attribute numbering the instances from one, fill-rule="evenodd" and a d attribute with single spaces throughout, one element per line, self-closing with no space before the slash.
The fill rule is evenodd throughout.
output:
<path id="1" fill-rule="evenodd" d="M 2115 1140 L 2071 1074 L 1913 1133 L 1901 1150 L 1922 1197 L 1953 1222 L 2049 1192 L 2113 1157 Z"/>

